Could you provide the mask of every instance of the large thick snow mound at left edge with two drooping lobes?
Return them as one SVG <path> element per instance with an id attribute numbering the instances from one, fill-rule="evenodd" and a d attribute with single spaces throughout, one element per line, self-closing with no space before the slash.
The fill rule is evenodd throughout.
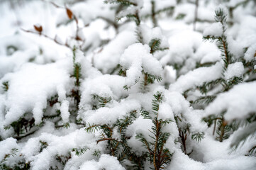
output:
<path id="1" fill-rule="evenodd" d="M 24 64 L 16 74 L 6 74 L 1 82 L 9 81 L 6 92 L 6 108 L 4 125 L 18 120 L 24 113 L 33 112 L 35 123 L 39 124 L 43 117 L 43 108 L 47 99 L 57 93 L 57 86 L 68 84 L 69 75 L 63 67 L 69 67 L 69 60 L 54 64 Z"/>

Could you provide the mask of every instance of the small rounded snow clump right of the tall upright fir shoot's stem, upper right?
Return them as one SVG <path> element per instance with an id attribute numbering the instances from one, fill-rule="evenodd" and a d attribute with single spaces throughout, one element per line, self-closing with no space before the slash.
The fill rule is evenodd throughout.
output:
<path id="1" fill-rule="evenodd" d="M 226 72 L 224 72 L 224 77 L 226 80 L 231 79 L 233 77 L 243 77 L 243 73 L 245 72 L 245 68 L 243 67 L 242 62 L 235 62 L 233 64 L 229 64 Z"/>

